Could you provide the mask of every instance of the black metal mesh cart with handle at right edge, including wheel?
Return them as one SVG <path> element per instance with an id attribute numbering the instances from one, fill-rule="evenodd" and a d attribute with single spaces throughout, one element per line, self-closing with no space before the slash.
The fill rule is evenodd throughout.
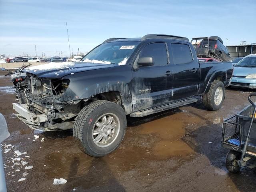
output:
<path id="1" fill-rule="evenodd" d="M 232 173 L 239 172 L 243 166 L 256 167 L 256 105 L 252 96 L 256 93 L 248 96 L 251 105 L 223 121 L 222 146 L 230 149 L 226 168 Z"/>

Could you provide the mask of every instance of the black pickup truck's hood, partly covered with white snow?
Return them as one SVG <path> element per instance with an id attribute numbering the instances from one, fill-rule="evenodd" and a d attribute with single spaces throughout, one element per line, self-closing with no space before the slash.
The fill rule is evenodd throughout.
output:
<path id="1" fill-rule="evenodd" d="M 35 74 L 41 78 L 63 78 L 66 75 L 95 70 L 100 68 L 109 68 L 118 66 L 117 64 L 97 64 L 89 62 L 50 62 L 48 64 L 42 64 L 38 66 L 32 66 L 25 68 L 22 72 Z"/>

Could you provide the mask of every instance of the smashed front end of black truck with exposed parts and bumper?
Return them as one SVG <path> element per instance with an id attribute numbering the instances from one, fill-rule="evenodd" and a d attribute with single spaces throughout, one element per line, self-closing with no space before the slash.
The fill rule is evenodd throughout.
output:
<path id="1" fill-rule="evenodd" d="M 70 80 L 63 78 L 38 78 L 27 74 L 27 86 L 20 90 L 19 100 L 13 103 L 15 114 L 30 128 L 50 131 L 73 127 L 80 111 L 81 100 L 71 100 L 66 92 Z"/>

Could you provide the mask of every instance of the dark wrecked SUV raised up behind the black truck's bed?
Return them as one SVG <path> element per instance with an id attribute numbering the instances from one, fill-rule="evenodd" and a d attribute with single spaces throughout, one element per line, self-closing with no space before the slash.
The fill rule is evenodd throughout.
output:
<path id="1" fill-rule="evenodd" d="M 192 38 L 191 43 L 199 58 L 213 57 L 222 61 L 232 61 L 228 49 L 218 36 Z"/>

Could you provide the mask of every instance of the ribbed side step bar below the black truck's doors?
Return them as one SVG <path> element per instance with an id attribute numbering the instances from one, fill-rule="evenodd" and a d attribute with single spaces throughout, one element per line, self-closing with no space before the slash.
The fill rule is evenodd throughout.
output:
<path id="1" fill-rule="evenodd" d="M 194 103 L 194 102 L 197 102 L 197 101 L 198 101 L 197 98 L 183 99 L 183 100 L 167 103 L 167 104 L 164 104 L 164 105 L 148 108 L 148 109 L 145 109 L 145 110 L 140 110 L 140 111 L 137 111 L 137 112 L 133 112 L 133 113 L 130 114 L 130 116 L 131 117 L 144 117 L 144 116 L 147 116 L 147 115 L 150 115 L 150 114 L 158 113 L 158 112 L 161 112 L 161 111 L 169 110 L 169 109 L 180 107 L 180 106 L 183 106 L 183 105 L 188 105 L 188 104 L 191 104 L 191 103 Z"/>

